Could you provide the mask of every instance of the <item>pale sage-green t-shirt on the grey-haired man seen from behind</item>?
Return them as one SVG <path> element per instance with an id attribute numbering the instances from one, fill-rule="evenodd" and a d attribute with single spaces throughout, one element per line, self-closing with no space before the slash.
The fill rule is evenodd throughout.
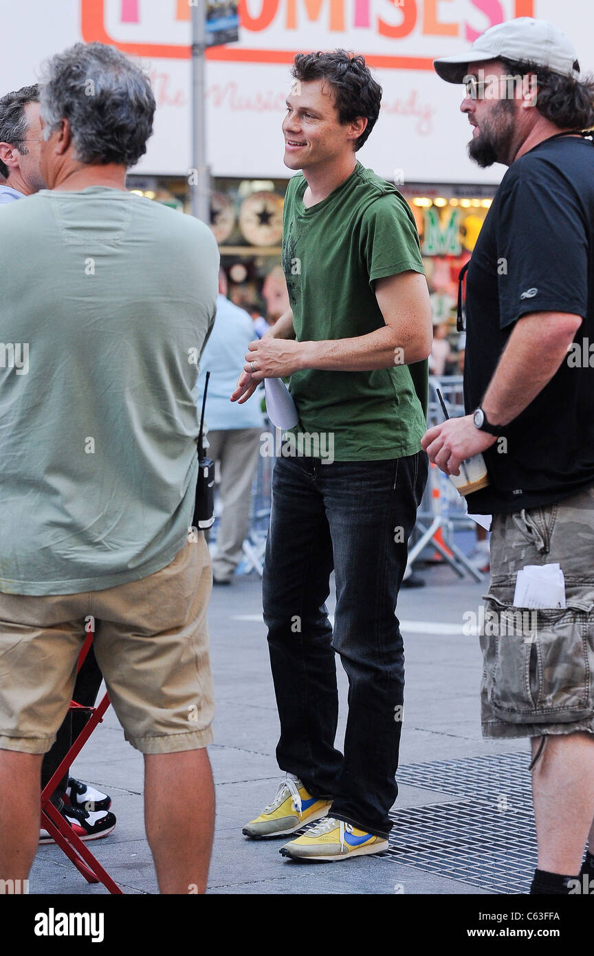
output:
<path id="1" fill-rule="evenodd" d="M 92 186 L 3 208 L 0 249 L 0 591 L 154 574 L 192 522 L 215 239 Z"/>

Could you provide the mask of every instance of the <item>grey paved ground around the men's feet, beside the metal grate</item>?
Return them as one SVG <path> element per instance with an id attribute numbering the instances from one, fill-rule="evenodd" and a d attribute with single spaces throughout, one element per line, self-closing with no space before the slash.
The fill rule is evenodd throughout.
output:
<path id="1" fill-rule="evenodd" d="M 463 614 L 478 613 L 485 585 L 458 582 L 448 569 L 425 575 L 431 585 L 403 591 L 399 617 L 405 637 L 407 688 L 401 768 L 431 761 L 458 761 L 483 754 L 526 753 L 523 741 L 483 741 L 478 722 L 481 658 L 476 637 L 462 633 Z M 212 662 L 217 696 L 216 744 L 210 750 L 217 784 L 217 831 L 209 893 L 216 894 L 472 894 L 491 892 L 468 872 L 448 879 L 396 857 L 364 857 L 334 864 L 282 858 L 284 840 L 250 841 L 241 833 L 276 790 L 274 759 L 278 720 L 269 673 L 260 580 L 236 579 L 215 588 L 210 607 Z M 344 732 L 347 681 L 339 667 Z M 123 739 L 110 708 L 104 724 L 76 761 L 75 775 L 112 794 L 117 828 L 89 844 L 125 893 L 156 893 L 143 831 L 142 757 Z M 175 780 L 172 781 L 175 787 Z M 493 785 L 494 805 L 497 779 Z M 400 787 L 396 809 L 460 806 L 460 797 L 435 785 Z M 430 817 L 431 821 L 431 817 Z M 460 838 L 464 835 L 460 833 Z M 435 833 L 435 847 L 440 843 Z M 457 874 L 456 874 L 457 877 Z M 35 859 L 31 892 L 106 893 L 90 886 L 55 846 Z"/>

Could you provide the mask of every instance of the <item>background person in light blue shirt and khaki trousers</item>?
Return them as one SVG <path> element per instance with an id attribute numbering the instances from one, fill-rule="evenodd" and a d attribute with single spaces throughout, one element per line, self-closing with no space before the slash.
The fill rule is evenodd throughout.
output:
<path id="1" fill-rule="evenodd" d="M 264 321 L 264 319 L 263 319 Z M 227 277 L 219 272 L 219 295 L 214 329 L 204 347 L 198 380 L 198 401 L 202 402 L 206 372 L 210 372 L 206 393 L 205 422 L 208 425 L 208 455 L 219 462 L 219 495 L 223 511 L 212 558 L 215 584 L 231 584 L 244 554 L 249 529 L 251 487 L 258 465 L 264 413 L 259 402 L 233 406 L 229 395 L 235 388 L 237 369 L 254 338 L 252 319 L 227 298 Z"/>

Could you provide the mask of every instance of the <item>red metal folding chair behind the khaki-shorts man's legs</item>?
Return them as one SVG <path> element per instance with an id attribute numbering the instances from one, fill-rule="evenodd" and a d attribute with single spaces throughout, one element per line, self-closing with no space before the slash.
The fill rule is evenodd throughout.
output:
<path id="1" fill-rule="evenodd" d="M 88 637 L 82 645 L 80 654 L 78 655 L 78 666 L 76 668 L 77 671 L 80 670 L 84 659 L 89 653 L 91 642 L 93 641 L 91 627 L 92 624 L 90 622 Z M 76 704 L 75 701 L 71 701 L 69 710 L 87 710 L 91 714 L 91 717 L 85 725 L 85 728 L 76 737 L 73 746 L 68 751 L 59 767 L 53 773 L 51 780 L 49 780 L 47 786 L 44 787 L 43 791 L 41 792 L 41 818 L 42 824 L 50 836 L 53 837 L 56 844 L 61 850 L 64 851 L 66 856 L 72 860 L 78 872 L 82 873 L 87 882 L 103 883 L 110 893 L 121 893 L 122 891 L 120 890 L 119 886 L 117 886 L 117 883 L 115 883 L 110 875 L 106 873 L 98 859 L 95 859 L 89 848 L 85 843 L 83 843 L 80 837 L 74 833 L 73 828 L 53 806 L 51 800 L 53 792 L 64 776 L 64 773 L 71 766 L 71 764 L 74 762 L 74 758 L 78 756 L 84 745 L 87 743 L 97 724 L 102 722 L 103 715 L 109 705 L 110 700 L 107 693 L 104 695 L 99 706 L 96 707 L 81 706 L 80 704 Z"/>

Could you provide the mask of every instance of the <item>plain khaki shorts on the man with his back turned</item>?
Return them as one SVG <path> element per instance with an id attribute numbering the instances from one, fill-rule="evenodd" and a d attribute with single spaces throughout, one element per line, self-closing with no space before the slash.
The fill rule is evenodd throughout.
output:
<path id="1" fill-rule="evenodd" d="M 126 740 L 143 753 L 210 744 L 211 589 L 201 532 L 167 567 L 129 584 L 48 597 L 0 593 L 0 748 L 50 750 L 70 704 L 89 619 Z"/>

